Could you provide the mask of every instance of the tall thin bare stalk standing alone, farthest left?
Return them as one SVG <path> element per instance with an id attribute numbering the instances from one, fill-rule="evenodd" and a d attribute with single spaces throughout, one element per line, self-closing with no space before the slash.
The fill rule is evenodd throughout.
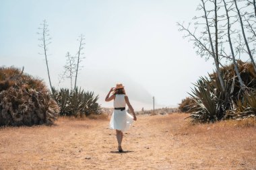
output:
<path id="1" fill-rule="evenodd" d="M 43 53 L 39 53 L 44 55 L 45 61 L 46 61 L 46 67 L 47 67 L 47 73 L 48 73 L 48 77 L 49 77 L 49 83 L 50 83 L 50 87 L 51 87 L 51 91 L 53 92 L 53 86 L 51 83 L 51 77 L 50 77 L 50 72 L 49 72 L 49 65 L 48 65 L 48 53 L 47 51 L 49 44 L 51 44 L 51 37 L 49 34 L 49 29 L 48 29 L 48 24 L 46 22 L 46 20 L 44 19 L 44 21 L 42 22 L 42 24 L 40 24 L 40 28 L 38 28 L 38 30 L 40 30 L 40 32 L 38 32 L 37 34 L 40 35 L 41 37 L 38 38 L 38 40 L 42 43 L 42 44 L 38 44 L 38 46 L 40 46 L 41 48 L 43 48 Z"/>

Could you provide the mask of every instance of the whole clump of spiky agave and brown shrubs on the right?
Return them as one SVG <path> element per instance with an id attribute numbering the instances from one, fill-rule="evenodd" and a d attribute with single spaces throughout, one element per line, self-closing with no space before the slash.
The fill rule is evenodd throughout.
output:
<path id="1" fill-rule="evenodd" d="M 238 62 L 239 71 L 247 89 L 241 89 L 234 68 L 222 68 L 224 77 L 224 91 L 220 81 L 213 73 L 209 77 L 200 77 L 192 89 L 191 98 L 195 104 L 191 105 L 191 118 L 199 122 L 214 122 L 228 118 L 248 118 L 255 116 L 256 111 L 256 74 L 252 65 Z"/>

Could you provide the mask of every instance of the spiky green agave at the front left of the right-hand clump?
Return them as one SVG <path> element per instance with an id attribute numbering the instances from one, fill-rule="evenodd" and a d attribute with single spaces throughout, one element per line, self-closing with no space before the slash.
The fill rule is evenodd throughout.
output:
<path id="1" fill-rule="evenodd" d="M 200 77 L 195 83 L 191 97 L 195 101 L 192 107 L 191 117 L 199 122 L 215 122 L 222 120 L 224 111 L 229 110 L 231 105 L 234 79 L 225 80 L 225 91 L 222 91 L 218 77 L 209 75 L 210 78 Z M 230 87 L 231 85 L 231 87 Z"/>

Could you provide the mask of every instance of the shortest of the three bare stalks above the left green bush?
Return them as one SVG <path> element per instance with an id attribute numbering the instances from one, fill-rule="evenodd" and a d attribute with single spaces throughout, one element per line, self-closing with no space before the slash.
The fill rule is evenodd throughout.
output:
<path id="1" fill-rule="evenodd" d="M 73 89 L 73 77 L 75 74 L 76 64 L 75 64 L 75 58 L 67 52 L 66 54 L 66 63 L 64 66 L 64 72 L 61 75 L 61 79 L 59 80 L 59 83 L 63 81 L 65 78 L 70 79 L 70 89 Z"/>

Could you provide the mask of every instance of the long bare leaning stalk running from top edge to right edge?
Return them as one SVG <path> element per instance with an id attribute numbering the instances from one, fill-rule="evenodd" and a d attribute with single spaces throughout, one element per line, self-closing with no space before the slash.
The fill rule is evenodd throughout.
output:
<path id="1" fill-rule="evenodd" d="M 255 65 L 255 61 L 254 61 L 254 58 L 253 58 L 253 54 L 252 54 L 252 51 L 249 47 L 249 42 L 247 41 L 247 36 L 245 35 L 245 28 L 244 28 L 244 24 L 243 24 L 243 19 L 242 19 L 242 15 L 241 15 L 241 11 L 240 9 L 238 8 L 238 5 L 237 5 L 237 2 L 236 0 L 233 0 L 234 1 L 234 5 L 236 7 L 236 12 L 237 12 L 237 15 L 238 15 L 238 19 L 239 19 L 239 22 L 240 22 L 240 26 L 241 26 L 241 31 L 243 33 L 243 40 L 245 42 L 245 46 L 246 46 L 246 52 L 249 54 L 250 58 L 251 58 L 251 63 L 253 64 L 253 67 L 255 69 L 255 72 L 256 72 L 256 65 Z"/>

